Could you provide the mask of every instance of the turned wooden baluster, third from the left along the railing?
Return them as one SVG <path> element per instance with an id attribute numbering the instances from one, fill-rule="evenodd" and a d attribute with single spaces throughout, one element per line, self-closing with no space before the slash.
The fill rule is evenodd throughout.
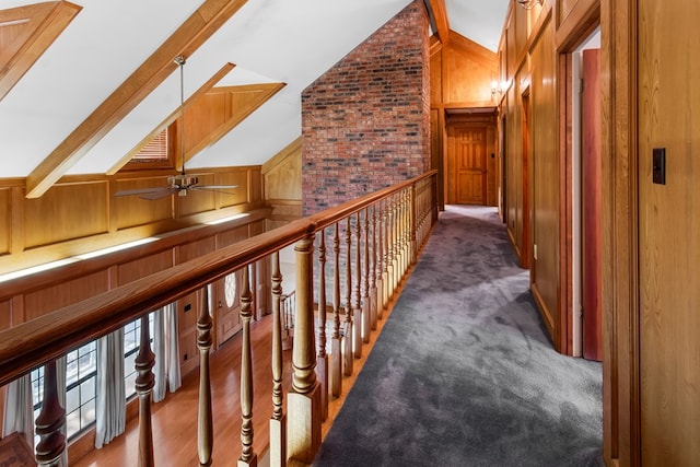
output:
<path id="1" fill-rule="evenodd" d="M 197 348 L 199 348 L 199 418 L 197 437 L 199 446 L 199 465 L 211 465 L 211 453 L 214 445 L 213 423 L 211 415 L 211 378 L 209 376 L 209 351 L 211 350 L 211 316 L 209 315 L 209 290 L 203 287 L 200 292 L 199 318 L 197 319 Z"/>

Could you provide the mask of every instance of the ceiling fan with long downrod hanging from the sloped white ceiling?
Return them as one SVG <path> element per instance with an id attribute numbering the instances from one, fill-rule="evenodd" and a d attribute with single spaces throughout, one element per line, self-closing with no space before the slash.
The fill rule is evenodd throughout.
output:
<path id="1" fill-rule="evenodd" d="M 180 147 L 180 161 L 183 161 L 183 168 L 179 174 L 167 177 L 167 186 L 154 187 L 154 188 L 141 188 L 141 189 L 128 189 L 114 194 L 114 196 L 131 196 L 139 195 L 139 198 L 156 200 L 165 198 L 166 196 L 177 194 L 178 196 L 187 196 L 188 191 L 196 190 L 221 190 L 237 188 L 237 185 L 198 185 L 199 178 L 196 175 L 188 175 L 185 173 L 185 57 L 178 55 L 175 57 L 175 63 L 179 67 L 179 108 L 180 108 L 180 128 L 179 132 L 179 147 Z M 225 192 L 225 191 L 222 191 Z M 230 194 L 233 195 L 233 194 Z"/>

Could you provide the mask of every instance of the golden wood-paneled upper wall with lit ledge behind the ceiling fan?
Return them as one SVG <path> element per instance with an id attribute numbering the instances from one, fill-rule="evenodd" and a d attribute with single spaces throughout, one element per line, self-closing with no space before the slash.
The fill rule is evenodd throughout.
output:
<path id="1" fill-rule="evenodd" d="M 115 197 L 124 189 L 167 185 L 172 171 L 63 177 L 26 199 L 24 179 L 0 179 L 0 275 L 94 252 L 264 206 L 260 166 L 197 171 L 199 183 L 233 190 L 190 191 L 155 201 Z M 232 192 L 232 194 L 230 194 Z"/>

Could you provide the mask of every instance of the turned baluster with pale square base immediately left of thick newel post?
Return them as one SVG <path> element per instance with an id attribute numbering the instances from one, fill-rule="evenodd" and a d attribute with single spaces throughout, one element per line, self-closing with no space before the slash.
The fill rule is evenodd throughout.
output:
<path id="1" fill-rule="evenodd" d="M 270 466 L 287 465 L 287 415 L 282 407 L 282 273 L 280 254 L 272 254 L 272 418 L 270 419 Z"/>

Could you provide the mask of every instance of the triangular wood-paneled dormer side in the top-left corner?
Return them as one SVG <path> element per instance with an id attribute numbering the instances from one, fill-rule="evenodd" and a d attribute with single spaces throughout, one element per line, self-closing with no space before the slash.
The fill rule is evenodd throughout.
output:
<path id="1" fill-rule="evenodd" d="M 0 101 L 81 9 L 52 1 L 0 10 Z"/>

